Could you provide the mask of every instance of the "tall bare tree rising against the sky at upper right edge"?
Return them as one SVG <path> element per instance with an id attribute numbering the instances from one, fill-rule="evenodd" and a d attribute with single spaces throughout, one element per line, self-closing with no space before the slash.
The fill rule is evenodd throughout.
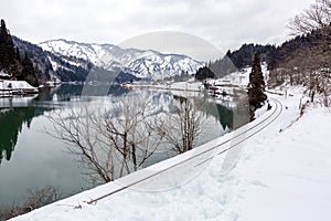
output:
<path id="1" fill-rule="evenodd" d="M 289 22 L 292 35 L 309 36 L 300 42 L 281 65 L 281 76 L 289 77 L 290 84 L 303 84 L 308 87 L 311 101 L 322 94 L 323 104 L 329 106 L 330 95 L 330 43 L 331 43 L 331 0 L 317 0 Z"/>

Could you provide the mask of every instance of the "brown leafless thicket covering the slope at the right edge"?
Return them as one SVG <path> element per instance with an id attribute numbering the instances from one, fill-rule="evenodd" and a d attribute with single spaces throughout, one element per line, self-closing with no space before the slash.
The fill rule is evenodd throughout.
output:
<path id="1" fill-rule="evenodd" d="M 278 69 L 270 71 L 269 85 L 303 85 L 308 88 L 311 102 L 321 94 L 323 104 L 329 105 L 331 65 L 328 61 L 331 53 L 320 49 L 320 45 L 301 45 L 292 54 L 287 55 Z"/>

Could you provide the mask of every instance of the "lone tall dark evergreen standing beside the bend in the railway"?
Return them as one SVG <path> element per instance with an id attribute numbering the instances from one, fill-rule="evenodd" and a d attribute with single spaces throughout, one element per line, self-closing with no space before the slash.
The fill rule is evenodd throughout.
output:
<path id="1" fill-rule="evenodd" d="M 267 95 L 265 94 L 265 86 L 266 85 L 260 67 L 259 56 L 257 53 L 255 53 L 252 62 L 252 72 L 249 74 L 248 83 L 250 120 L 255 118 L 255 110 L 257 108 L 260 108 L 267 99 Z"/>

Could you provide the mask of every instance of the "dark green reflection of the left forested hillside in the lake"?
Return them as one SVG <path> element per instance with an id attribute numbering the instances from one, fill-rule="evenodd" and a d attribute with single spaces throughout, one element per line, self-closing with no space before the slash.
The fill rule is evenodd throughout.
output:
<path id="1" fill-rule="evenodd" d="M 97 91 L 97 86 L 95 90 Z M 70 102 L 73 97 L 81 96 L 83 85 L 61 85 L 55 88 L 44 88 L 35 98 L 1 98 L 0 102 L 0 164 L 2 159 L 10 160 L 12 151 L 18 143 L 19 134 L 23 124 L 30 128 L 33 117 L 43 115 L 55 106 L 39 105 L 39 102 L 52 102 L 56 94 L 56 99 Z M 120 96 L 127 90 L 113 85 L 109 94 Z"/>

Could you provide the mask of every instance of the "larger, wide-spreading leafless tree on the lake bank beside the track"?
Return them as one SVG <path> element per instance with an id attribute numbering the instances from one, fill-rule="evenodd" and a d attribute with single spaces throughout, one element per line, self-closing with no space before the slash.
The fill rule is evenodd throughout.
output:
<path id="1" fill-rule="evenodd" d="M 81 106 L 49 115 L 47 134 L 70 144 L 93 183 L 109 182 L 137 170 L 157 149 L 146 97 L 126 96 L 111 107 Z"/>

